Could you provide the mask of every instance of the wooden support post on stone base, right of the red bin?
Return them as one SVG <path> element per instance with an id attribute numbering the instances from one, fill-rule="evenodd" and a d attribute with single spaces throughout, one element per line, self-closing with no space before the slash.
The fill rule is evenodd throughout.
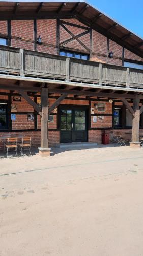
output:
<path id="1" fill-rule="evenodd" d="M 132 121 L 132 141 L 130 142 L 130 146 L 132 147 L 139 147 L 139 120 L 140 120 L 140 109 L 139 109 L 139 97 L 136 96 L 133 99 L 133 109 L 134 109 L 134 116 Z"/>

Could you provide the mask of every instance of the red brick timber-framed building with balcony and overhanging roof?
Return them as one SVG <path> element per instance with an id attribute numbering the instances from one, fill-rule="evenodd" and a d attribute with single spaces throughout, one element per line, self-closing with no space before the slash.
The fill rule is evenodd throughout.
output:
<path id="1" fill-rule="evenodd" d="M 141 38 L 84 2 L 0 7 L 1 135 L 30 135 L 40 146 L 43 88 L 49 146 L 101 143 L 102 130 L 132 130 L 134 101 L 141 108 L 143 99 Z M 143 129 L 142 109 L 137 120 Z"/>

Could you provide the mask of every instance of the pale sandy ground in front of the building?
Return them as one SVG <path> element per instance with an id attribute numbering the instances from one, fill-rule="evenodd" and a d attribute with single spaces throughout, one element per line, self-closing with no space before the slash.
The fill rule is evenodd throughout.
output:
<path id="1" fill-rule="evenodd" d="M 143 255 L 143 148 L 0 159 L 0 255 Z"/>

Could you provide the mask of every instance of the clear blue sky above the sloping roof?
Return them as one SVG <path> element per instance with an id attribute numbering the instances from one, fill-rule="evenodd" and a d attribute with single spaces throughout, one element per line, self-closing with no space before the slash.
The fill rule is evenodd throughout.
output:
<path id="1" fill-rule="evenodd" d="M 143 38 L 143 0 L 88 0 L 88 2 Z"/>

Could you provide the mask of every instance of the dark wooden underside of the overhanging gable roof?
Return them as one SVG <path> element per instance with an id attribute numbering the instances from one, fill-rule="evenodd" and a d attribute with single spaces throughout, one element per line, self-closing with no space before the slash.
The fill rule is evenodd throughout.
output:
<path id="1" fill-rule="evenodd" d="M 85 2 L 0 2 L 0 20 L 63 18 L 76 18 L 143 58 L 142 38 Z"/>

